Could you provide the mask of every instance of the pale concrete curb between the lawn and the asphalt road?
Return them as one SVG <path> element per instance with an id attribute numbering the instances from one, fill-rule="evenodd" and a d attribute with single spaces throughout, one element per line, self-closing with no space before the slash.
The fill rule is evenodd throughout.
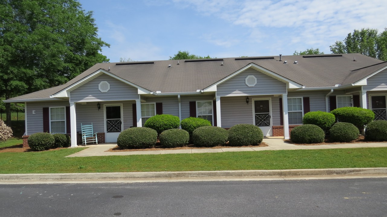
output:
<path id="1" fill-rule="evenodd" d="M 297 170 L 224 170 L 224 171 L 173 171 L 126 173 L 46 173 L 0 174 L 1 181 L 49 180 L 117 180 L 117 179 L 171 179 L 171 178 L 249 178 L 323 175 L 387 175 L 387 168 L 334 168 Z"/>

